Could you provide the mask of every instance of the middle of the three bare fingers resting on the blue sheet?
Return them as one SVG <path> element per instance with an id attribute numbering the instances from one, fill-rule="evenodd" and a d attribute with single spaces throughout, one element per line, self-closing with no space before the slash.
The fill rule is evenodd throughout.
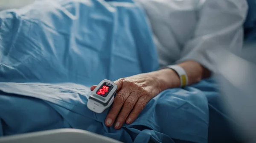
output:
<path id="1" fill-rule="evenodd" d="M 122 106 L 122 110 L 119 113 L 114 128 L 120 129 L 122 124 L 125 122 L 126 118 L 130 114 L 131 110 L 133 109 L 134 105 L 139 99 L 139 92 L 132 92 L 129 97 L 126 99 L 124 105 Z"/>

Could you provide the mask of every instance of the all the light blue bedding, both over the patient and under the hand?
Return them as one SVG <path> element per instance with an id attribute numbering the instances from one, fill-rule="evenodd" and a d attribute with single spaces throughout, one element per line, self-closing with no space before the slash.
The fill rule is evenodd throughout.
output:
<path id="1" fill-rule="evenodd" d="M 0 26 L 0 135 L 77 128 L 126 143 L 207 143 L 211 80 L 163 91 L 119 130 L 105 126 L 108 110 L 87 109 L 89 86 L 158 68 L 145 14 L 133 3 L 38 1 L 1 12 Z"/>

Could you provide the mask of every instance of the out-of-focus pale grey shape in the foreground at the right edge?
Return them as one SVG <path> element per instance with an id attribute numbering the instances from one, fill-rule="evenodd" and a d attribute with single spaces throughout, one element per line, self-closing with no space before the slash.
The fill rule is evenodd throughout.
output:
<path id="1" fill-rule="evenodd" d="M 256 143 L 256 44 L 245 43 L 241 53 L 222 51 L 216 59 L 221 104 L 232 126 L 246 143 Z"/>

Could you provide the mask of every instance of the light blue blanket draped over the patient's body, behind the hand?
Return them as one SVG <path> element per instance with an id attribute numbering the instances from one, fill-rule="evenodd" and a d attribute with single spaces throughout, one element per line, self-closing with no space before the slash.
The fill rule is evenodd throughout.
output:
<path id="1" fill-rule="evenodd" d="M 44 0 L 3 11 L 0 81 L 91 85 L 157 70 L 144 17 L 132 3 L 102 0 Z"/>

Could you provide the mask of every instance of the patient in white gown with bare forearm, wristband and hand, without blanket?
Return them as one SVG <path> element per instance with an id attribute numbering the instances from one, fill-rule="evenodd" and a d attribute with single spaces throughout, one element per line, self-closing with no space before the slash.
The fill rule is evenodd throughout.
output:
<path id="1" fill-rule="evenodd" d="M 208 78 L 214 67 L 207 50 L 239 50 L 243 43 L 245 0 L 136 2 L 145 9 L 150 21 L 159 64 L 167 68 L 114 81 L 119 92 L 105 124 L 114 125 L 115 129 L 124 122 L 132 123 L 148 101 L 161 91 Z M 168 67 L 174 63 L 177 63 L 175 67 Z"/>

